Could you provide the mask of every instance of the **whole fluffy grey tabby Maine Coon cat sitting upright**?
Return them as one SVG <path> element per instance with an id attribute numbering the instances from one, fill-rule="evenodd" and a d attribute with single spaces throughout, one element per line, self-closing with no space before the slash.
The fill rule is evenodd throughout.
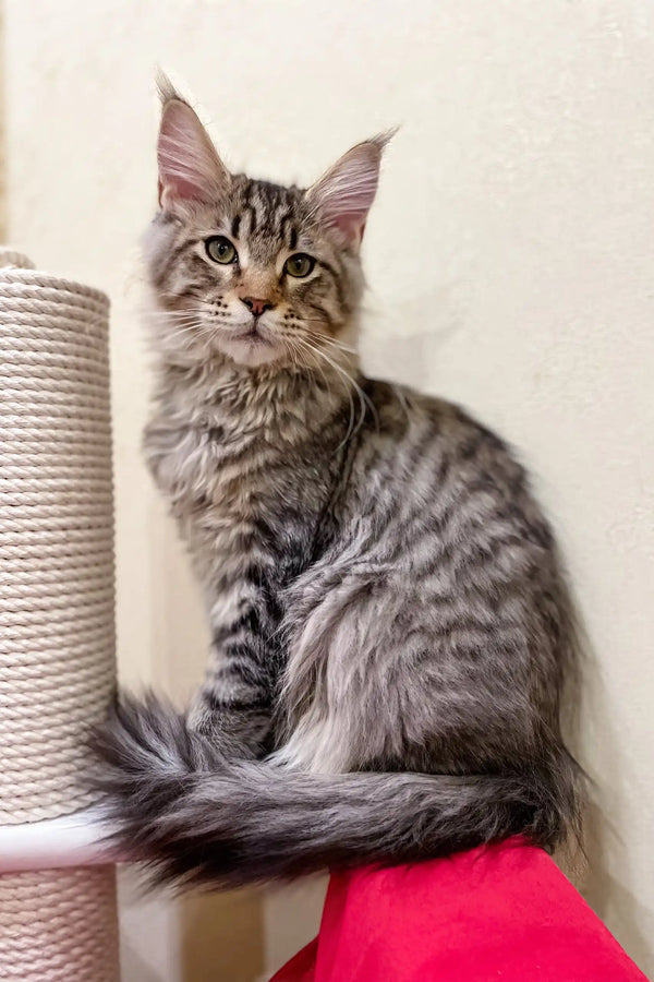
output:
<path id="1" fill-rule="evenodd" d="M 145 453 L 213 645 L 189 714 L 123 696 L 98 735 L 118 840 L 219 886 L 554 848 L 579 782 L 549 525 L 497 435 L 359 367 L 384 139 L 279 187 L 230 173 L 161 94 Z"/>

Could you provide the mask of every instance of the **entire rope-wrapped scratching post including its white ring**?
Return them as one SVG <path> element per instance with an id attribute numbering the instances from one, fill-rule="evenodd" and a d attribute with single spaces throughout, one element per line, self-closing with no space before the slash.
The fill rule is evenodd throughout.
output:
<path id="1" fill-rule="evenodd" d="M 114 685 L 107 297 L 0 251 L 0 979 L 118 982 L 86 736 Z"/>

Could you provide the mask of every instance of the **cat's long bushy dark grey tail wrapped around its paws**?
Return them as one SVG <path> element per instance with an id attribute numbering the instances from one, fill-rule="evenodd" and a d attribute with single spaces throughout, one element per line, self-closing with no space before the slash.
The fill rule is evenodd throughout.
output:
<path id="1" fill-rule="evenodd" d="M 553 848 L 577 814 L 567 757 L 528 776 L 303 774 L 227 761 L 153 698 L 119 703 L 95 745 L 113 841 L 189 885 L 417 862 L 519 833 Z"/>

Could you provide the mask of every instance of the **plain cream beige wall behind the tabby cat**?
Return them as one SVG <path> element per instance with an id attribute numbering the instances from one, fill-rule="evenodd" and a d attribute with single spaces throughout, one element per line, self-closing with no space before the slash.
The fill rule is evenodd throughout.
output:
<path id="1" fill-rule="evenodd" d="M 124 678 L 187 688 L 204 657 L 195 592 L 138 454 L 133 254 L 155 196 L 155 63 L 210 109 L 234 166 L 272 178 L 307 180 L 399 122 L 367 233 L 368 362 L 464 402 L 535 474 L 594 652 L 584 745 L 605 814 L 590 896 L 654 969 L 652 4 L 5 5 L 11 237 L 113 298 Z M 307 906 L 267 900 L 270 963 L 286 935 L 313 927 Z M 179 978 L 182 934 L 171 944 L 169 974 L 157 966 L 153 980 Z"/>

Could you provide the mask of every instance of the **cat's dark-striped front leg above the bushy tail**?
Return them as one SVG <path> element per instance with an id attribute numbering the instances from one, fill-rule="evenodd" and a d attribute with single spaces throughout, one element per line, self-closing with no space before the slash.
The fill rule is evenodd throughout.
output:
<path id="1" fill-rule="evenodd" d="M 189 724 L 230 757 L 271 749 L 278 622 L 269 587 L 247 576 L 222 589 L 209 611 L 209 664 Z"/>

